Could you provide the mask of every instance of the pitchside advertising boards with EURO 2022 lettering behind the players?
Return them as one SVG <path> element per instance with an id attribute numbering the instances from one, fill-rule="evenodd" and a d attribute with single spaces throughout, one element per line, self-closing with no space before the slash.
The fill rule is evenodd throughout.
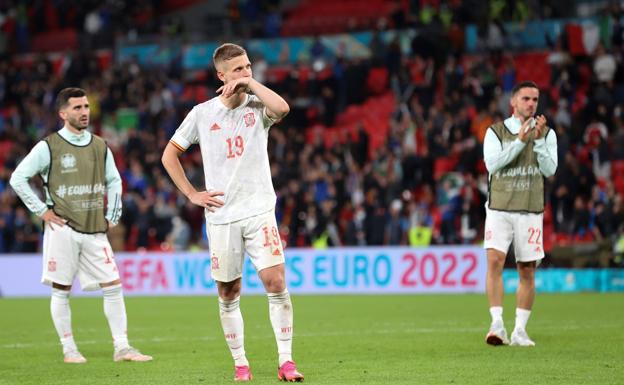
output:
<path id="1" fill-rule="evenodd" d="M 207 252 L 119 253 L 117 266 L 126 295 L 215 295 Z M 478 246 L 288 249 L 288 286 L 294 294 L 483 293 L 485 252 Z M 3 297 L 47 296 L 40 284 L 39 254 L 0 256 Z M 505 289 L 515 292 L 518 279 L 505 271 Z M 538 291 L 624 291 L 624 269 L 541 269 Z M 247 258 L 243 272 L 246 294 L 264 293 Z M 74 287 L 75 295 L 94 295 Z M 96 292 L 97 293 L 97 292 Z"/>

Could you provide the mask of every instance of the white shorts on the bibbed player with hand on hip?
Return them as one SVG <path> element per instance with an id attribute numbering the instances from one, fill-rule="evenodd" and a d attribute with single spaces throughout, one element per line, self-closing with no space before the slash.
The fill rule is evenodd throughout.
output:
<path id="1" fill-rule="evenodd" d="M 72 285 L 76 274 L 82 290 L 98 290 L 101 283 L 119 279 L 106 234 L 83 234 L 69 226 L 46 224 L 43 234 L 41 282 Z"/>

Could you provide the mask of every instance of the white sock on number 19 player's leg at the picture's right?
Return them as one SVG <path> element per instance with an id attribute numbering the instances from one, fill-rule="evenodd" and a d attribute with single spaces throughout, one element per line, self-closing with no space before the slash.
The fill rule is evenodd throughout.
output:
<path id="1" fill-rule="evenodd" d="M 269 297 L 269 317 L 277 352 L 279 354 L 279 366 L 286 361 L 292 361 L 292 334 L 293 334 L 293 309 L 288 290 L 281 293 L 267 293 Z"/>

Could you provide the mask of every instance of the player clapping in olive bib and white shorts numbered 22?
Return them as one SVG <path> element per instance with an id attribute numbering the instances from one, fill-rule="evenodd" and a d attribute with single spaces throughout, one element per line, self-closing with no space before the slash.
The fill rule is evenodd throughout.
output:
<path id="1" fill-rule="evenodd" d="M 486 290 L 492 323 L 490 345 L 509 344 L 503 324 L 503 266 L 513 243 L 520 283 L 511 345 L 534 346 L 526 332 L 535 298 L 535 268 L 544 258 L 544 178 L 557 170 L 557 137 L 543 115 L 534 117 L 539 89 L 531 81 L 517 84 L 510 104 L 513 115 L 488 128 L 483 156 L 489 172 L 485 242 Z"/>

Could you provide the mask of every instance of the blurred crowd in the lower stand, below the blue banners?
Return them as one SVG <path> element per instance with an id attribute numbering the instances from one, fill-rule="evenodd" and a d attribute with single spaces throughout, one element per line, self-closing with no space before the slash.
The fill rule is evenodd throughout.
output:
<path id="1" fill-rule="evenodd" d="M 619 20 L 619 10 L 613 12 Z M 481 29 L 477 54 L 464 52 L 456 24 L 433 17 L 419 24 L 427 33 L 412 40 L 407 55 L 398 41 L 375 35 L 370 60 L 330 60 L 319 42 L 310 56 L 324 64 L 321 71 L 300 64 L 279 75 L 252 58 L 254 76 L 291 106 L 269 144 L 288 246 L 481 242 L 488 188 L 483 137 L 509 116 L 511 88 L 526 73 L 515 53 L 501 49 L 505 35 L 496 23 L 489 26 Z M 541 53 L 549 81 L 540 85 L 540 111 L 559 143 L 545 213 L 545 231 L 556 242 L 615 244 L 624 233 L 619 28 L 614 23 L 611 41 L 591 55 L 571 54 L 563 34 Z M 107 140 L 122 174 L 124 215 L 109 234 L 113 247 L 205 247 L 202 209 L 177 192 L 160 157 L 188 110 L 215 94 L 212 69 L 188 73 L 177 62 L 145 67 L 133 60 L 103 67 L 89 50 L 65 63 L 55 69 L 43 55 L 32 65 L 0 59 L 0 252 L 40 247 L 39 221 L 8 179 L 28 150 L 59 128 L 54 98 L 70 85 L 89 92 L 92 129 Z M 202 186 L 198 148 L 183 164 Z"/>

